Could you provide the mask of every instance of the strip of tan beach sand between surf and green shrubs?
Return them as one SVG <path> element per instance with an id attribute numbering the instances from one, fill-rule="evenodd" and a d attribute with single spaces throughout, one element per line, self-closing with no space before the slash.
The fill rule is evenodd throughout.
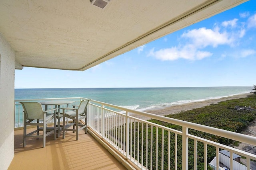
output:
<path id="1" fill-rule="evenodd" d="M 204 100 L 204 101 L 200 101 L 200 102 L 189 102 L 189 103 L 184 103 L 184 104 L 176 104 L 176 105 L 173 105 L 170 107 L 165 107 L 163 109 L 148 109 L 148 110 L 144 110 L 144 112 L 152 113 L 155 115 L 161 115 L 161 116 L 171 115 L 171 114 L 180 113 L 181 111 L 192 110 L 192 109 L 208 106 L 211 104 L 217 104 L 219 102 L 226 101 L 226 100 L 246 98 L 246 96 L 248 96 L 248 95 L 252 95 L 252 93 L 238 94 L 238 95 L 228 96 L 228 97 L 223 97 L 223 98 L 218 98 L 218 99 L 209 99 L 209 100 Z M 148 120 L 148 117 L 143 117 L 140 115 L 132 115 L 132 116 L 137 117 L 139 119 Z"/>

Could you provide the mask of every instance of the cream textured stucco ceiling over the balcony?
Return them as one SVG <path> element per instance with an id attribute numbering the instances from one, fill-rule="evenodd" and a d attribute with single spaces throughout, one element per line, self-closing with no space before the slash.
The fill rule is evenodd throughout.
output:
<path id="1" fill-rule="evenodd" d="M 20 66 L 86 70 L 246 0 L 1 0 Z"/>

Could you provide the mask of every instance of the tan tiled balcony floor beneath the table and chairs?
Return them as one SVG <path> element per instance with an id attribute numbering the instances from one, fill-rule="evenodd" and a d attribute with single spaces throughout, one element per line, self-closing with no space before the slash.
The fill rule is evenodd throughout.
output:
<path id="1" fill-rule="evenodd" d="M 28 129 L 32 131 L 32 129 Z M 46 137 L 46 147 L 42 148 L 42 139 L 27 138 L 23 148 L 23 130 L 14 131 L 14 158 L 9 170 L 124 170 L 126 169 L 89 133 L 80 131 L 65 133 L 65 139 Z"/>

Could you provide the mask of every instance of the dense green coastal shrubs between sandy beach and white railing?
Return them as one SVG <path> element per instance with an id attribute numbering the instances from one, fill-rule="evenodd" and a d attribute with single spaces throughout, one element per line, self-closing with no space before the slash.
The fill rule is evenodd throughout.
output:
<path id="1" fill-rule="evenodd" d="M 256 92 L 256 86 L 255 86 Z M 192 109 L 188 111 L 182 111 L 177 114 L 166 115 L 166 117 L 180 119 L 183 121 L 189 121 L 192 123 L 198 123 L 201 125 L 206 125 L 210 127 L 216 127 L 219 129 L 224 129 L 236 133 L 241 133 L 244 131 L 250 122 L 254 121 L 256 118 L 256 111 L 249 111 L 246 109 L 237 110 L 235 106 L 250 106 L 251 108 L 256 109 L 256 95 L 248 95 L 246 98 L 227 100 L 224 102 L 219 102 L 218 104 L 212 104 L 210 106 L 201 107 L 198 109 Z M 178 131 L 182 131 L 182 127 L 174 125 L 171 123 L 166 123 L 158 121 L 155 119 L 149 120 L 150 122 L 156 123 L 158 125 L 163 125 Z M 120 127 L 120 129 L 126 129 L 126 127 Z M 147 164 L 148 167 L 152 165 L 153 169 L 161 169 L 161 164 L 163 161 L 164 169 L 168 168 L 168 152 L 170 151 L 170 168 L 174 169 L 174 153 L 175 153 L 175 134 L 168 133 L 168 131 L 163 130 L 157 127 L 150 127 L 146 123 L 137 123 L 133 122 L 129 125 L 132 137 L 130 139 L 131 146 L 131 155 L 137 160 L 143 160 L 143 165 Z M 151 130 L 152 129 L 152 130 Z M 148 131 L 148 136 L 146 137 L 146 131 Z M 152 131 L 152 132 L 151 132 Z M 163 133 L 163 135 L 162 135 Z M 115 134 L 115 132 L 114 132 Z M 239 145 L 239 142 L 232 141 L 223 137 L 216 135 L 203 133 L 193 129 L 189 129 L 189 134 L 202 137 L 217 143 L 224 145 L 234 146 Z M 152 137 L 152 138 L 151 138 Z M 170 148 L 168 148 L 168 139 L 170 138 Z M 151 142 L 152 141 L 152 142 Z M 124 142 L 125 145 L 125 142 Z M 143 145 L 143 146 L 142 146 Z M 156 145 L 158 146 L 158 154 L 156 158 Z M 162 145 L 164 150 L 162 151 Z M 148 147 L 146 147 L 148 146 Z M 152 148 L 150 147 L 152 146 Z M 143 148 L 143 150 L 141 149 Z M 139 149 L 139 150 L 137 150 Z M 141 154 L 148 152 L 147 162 L 146 155 Z M 151 155 L 152 152 L 152 155 Z M 162 156 L 163 154 L 163 156 Z M 143 158 L 141 157 L 143 155 Z M 182 169 L 182 136 L 177 135 L 177 168 Z M 210 145 L 207 145 L 207 162 L 210 161 L 216 156 L 216 148 Z M 151 161 L 152 157 L 152 161 Z M 156 161 L 158 164 L 156 165 Z M 188 169 L 194 169 L 194 140 L 188 140 Z M 197 169 L 204 169 L 204 143 L 197 142 Z M 208 165 L 208 169 L 212 169 Z"/>

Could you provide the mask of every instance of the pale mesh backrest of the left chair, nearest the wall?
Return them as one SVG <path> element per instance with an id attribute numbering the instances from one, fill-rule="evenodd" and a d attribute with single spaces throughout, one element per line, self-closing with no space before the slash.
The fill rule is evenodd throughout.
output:
<path id="1" fill-rule="evenodd" d="M 44 119 L 44 110 L 39 102 L 20 102 L 26 114 L 26 119 Z"/>

